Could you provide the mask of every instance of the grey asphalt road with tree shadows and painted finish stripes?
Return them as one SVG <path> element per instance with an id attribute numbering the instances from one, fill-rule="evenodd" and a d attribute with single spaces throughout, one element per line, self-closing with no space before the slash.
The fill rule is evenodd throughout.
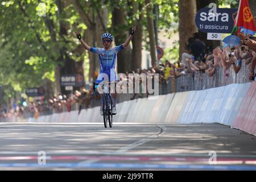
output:
<path id="1" fill-rule="evenodd" d="M 255 139 L 219 124 L 0 123 L 0 170 L 256 170 Z"/>

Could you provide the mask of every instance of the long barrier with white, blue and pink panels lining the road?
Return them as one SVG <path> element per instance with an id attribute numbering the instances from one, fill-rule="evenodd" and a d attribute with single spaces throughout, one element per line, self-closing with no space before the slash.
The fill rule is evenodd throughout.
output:
<path id="1" fill-rule="evenodd" d="M 114 122 L 221 123 L 256 135 L 256 82 L 150 96 L 117 104 Z M 12 118 L 16 122 L 18 118 Z M 42 115 L 27 122 L 102 122 L 100 107 Z M 103 125 L 103 123 L 102 123 Z"/>

